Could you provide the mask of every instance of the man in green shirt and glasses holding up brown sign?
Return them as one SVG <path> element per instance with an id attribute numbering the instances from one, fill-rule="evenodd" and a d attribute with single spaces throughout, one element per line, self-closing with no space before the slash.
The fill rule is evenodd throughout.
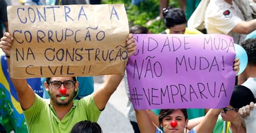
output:
<path id="1" fill-rule="evenodd" d="M 135 53 L 136 43 L 132 34 L 126 38 L 128 57 Z M 13 37 L 4 33 L 0 48 L 10 58 Z M 8 64 L 9 64 L 8 59 Z M 9 66 L 10 67 L 10 66 Z M 76 77 L 52 77 L 44 83 L 50 100 L 36 95 L 25 79 L 11 79 L 23 109 L 29 132 L 69 132 L 79 121 L 97 122 L 110 96 L 122 81 L 123 75 L 108 75 L 105 83 L 92 95 L 73 100 L 78 91 Z"/>

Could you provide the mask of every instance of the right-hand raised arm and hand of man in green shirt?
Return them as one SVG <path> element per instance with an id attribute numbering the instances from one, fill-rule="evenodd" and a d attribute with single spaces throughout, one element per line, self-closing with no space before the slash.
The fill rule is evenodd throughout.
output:
<path id="1" fill-rule="evenodd" d="M 132 38 L 133 35 L 129 34 L 126 38 L 126 48 L 128 52 L 128 57 L 136 52 L 136 43 Z M 94 93 L 94 101 L 99 110 L 103 110 L 106 106 L 107 101 L 109 101 L 110 96 L 116 91 L 119 83 L 122 81 L 123 75 L 107 75 L 104 84 L 96 90 Z"/>

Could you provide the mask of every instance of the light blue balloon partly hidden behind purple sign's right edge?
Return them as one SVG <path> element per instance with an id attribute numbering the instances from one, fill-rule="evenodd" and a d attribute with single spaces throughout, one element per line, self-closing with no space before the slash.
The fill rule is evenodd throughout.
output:
<path id="1" fill-rule="evenodd" d="M 239 75 L 242 72 L 244 72 L 244 70 L 247 66 L 248 56 L 247 56 L 245 49 L 242 48 L 242 46 L 240 46 L 238 44 L 234 44 L 234 46 L 235 46 L 235 53 L 237 54 L 237 55 L 235 55 L 235 58 L 239 58 L 239 62 L 240 62 L 240 65 L 239 65 L 240 70 L 237 74 L 237 75 Z"/>

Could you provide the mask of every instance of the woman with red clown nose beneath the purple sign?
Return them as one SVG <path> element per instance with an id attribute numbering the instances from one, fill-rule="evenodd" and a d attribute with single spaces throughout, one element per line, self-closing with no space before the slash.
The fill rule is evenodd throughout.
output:
<path id="1" fill-rule="evenodd" d="M 140 132 L 156 132 L 156 133 L 194 133 L 195 130 L 187 129 L 187 110 L 186 109 L 161 109 L 159 113 L 159 124 L 163 128 L 161 131 L 151 122 L 149 114 L 146 110 L 135 110 Z"/>

